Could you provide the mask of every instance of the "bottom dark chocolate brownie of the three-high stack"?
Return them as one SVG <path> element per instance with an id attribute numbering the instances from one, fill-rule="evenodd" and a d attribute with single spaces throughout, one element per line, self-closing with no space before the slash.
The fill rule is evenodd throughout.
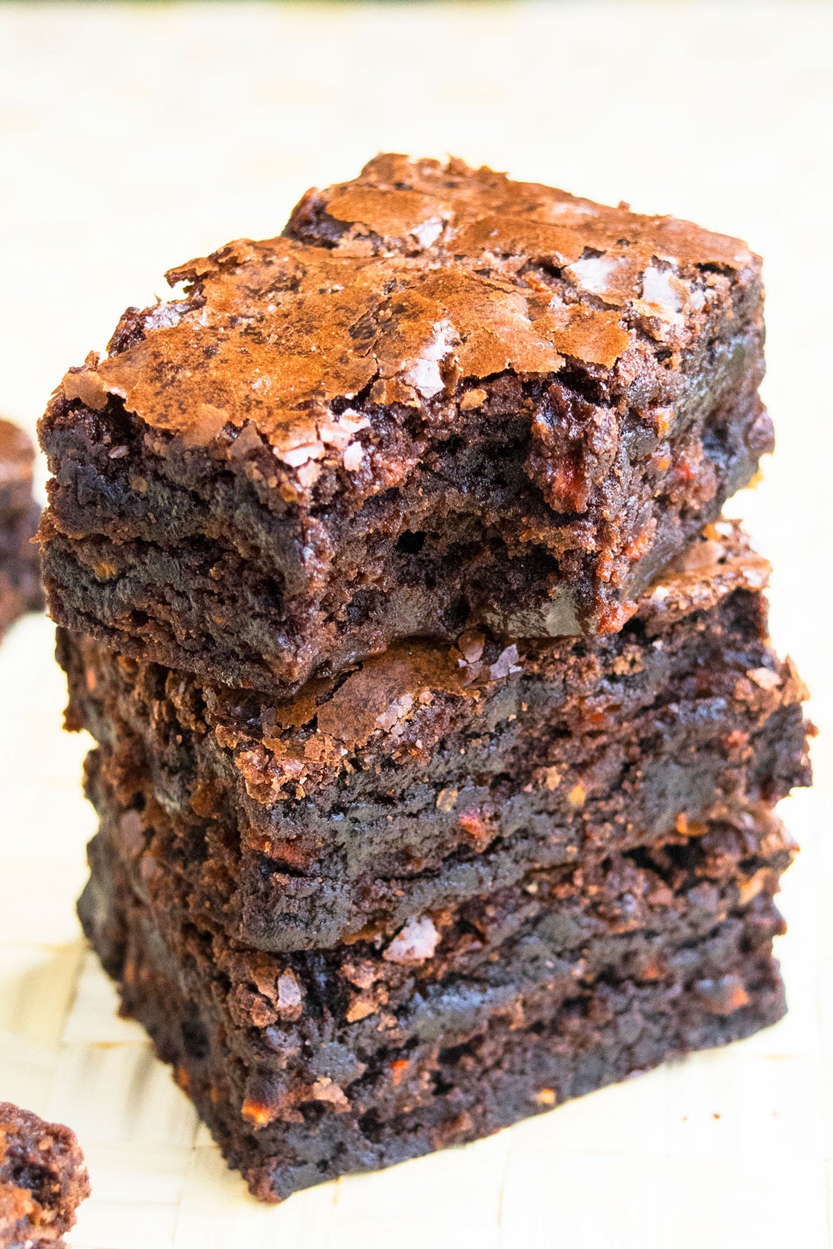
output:
<path id="1" fill-rule="evenodd" d="M 276 1200 L 472 1140 L 783 1013 L 767 812 L 531 873 L 392 939 L 288 955 L 196 914 L 176 864 L 90 846 L 85 931 L 231 1165 Z M 520 894 L 520 896 L 518 896 Z"/>

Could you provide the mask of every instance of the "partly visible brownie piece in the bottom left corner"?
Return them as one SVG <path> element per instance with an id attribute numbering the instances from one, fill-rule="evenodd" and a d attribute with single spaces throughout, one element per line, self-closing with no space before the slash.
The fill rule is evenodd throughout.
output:
<path id="1" fill-rule="evenodd" d="M 0 1249 L 61 1249 L 89 1195 L 75 1133 L 0 1102 Z"/>

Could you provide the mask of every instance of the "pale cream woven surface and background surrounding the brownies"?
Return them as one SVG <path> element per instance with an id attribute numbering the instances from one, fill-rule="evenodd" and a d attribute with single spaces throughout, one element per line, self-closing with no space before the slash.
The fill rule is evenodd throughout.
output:
<path id="1" fill-rule="evenodd" d="M 164 269 L 280 230 L 378 149 L 746 236 L 767 261 L 779 448 L 737 502 L 773 629 L 828 729 L 787 804 L 792 1012 L 733 1049 L 465 1150 L 261 1209 L 230 1175 L 74 917 L 92 814 L 51 629 L 0 649 L 0 1098 L 74 1124 L 84 1249 L 828 1244 L 833 1155 L 831 131 L 824 4 L 0 6 L 0 410 L 32 426 Z"/>

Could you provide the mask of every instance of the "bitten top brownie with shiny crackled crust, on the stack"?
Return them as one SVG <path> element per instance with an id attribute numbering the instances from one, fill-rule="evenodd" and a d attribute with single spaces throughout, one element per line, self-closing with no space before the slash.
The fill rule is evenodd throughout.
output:
<path id="1" fill-rule="evenodd" d="M 761 262 L 672 217 L 388 155 L 167 276 L 41 422 L 45 580 L 214 679 L 614 632 L 772 448 Z"/>

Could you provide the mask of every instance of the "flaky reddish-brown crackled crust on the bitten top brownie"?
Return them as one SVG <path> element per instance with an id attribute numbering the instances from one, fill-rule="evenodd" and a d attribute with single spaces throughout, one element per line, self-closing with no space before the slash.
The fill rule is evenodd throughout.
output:
<path id="1" fill-rule="evenodd" d="M 129 309 L 62 392 L 95 410 L 120 396 L 185 446 L 265 442 L 303 488 L 316 460 L 361 471 L 356 435 L 380 406 L 447 428 L 488 411 L 478 382 L 506 371 L 581 367 L 624 392 L 649 356 L 673 370 L 758 266 L 673 217 L 385 155 L 310 191 L 282 236 L 171 270 L 184 294 Z"/>

